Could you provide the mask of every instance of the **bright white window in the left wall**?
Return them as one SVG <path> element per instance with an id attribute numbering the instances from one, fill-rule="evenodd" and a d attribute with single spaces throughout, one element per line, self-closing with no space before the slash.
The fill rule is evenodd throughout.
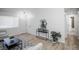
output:
<path id="1" fill-rule="evenodd" d="M 0 29 L 15 28 L 19 26 L 19 19 L 11 16 L 0 16 Z"/>

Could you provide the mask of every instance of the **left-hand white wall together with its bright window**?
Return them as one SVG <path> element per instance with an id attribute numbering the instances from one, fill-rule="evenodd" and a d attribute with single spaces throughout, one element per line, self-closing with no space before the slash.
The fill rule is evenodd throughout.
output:
<path id="1" fill-rule="evenodd" d="M 6 30 L 9 36 L 25 33 L 26 19 L 13 16 L 0 16 L 0 30 Z"/>

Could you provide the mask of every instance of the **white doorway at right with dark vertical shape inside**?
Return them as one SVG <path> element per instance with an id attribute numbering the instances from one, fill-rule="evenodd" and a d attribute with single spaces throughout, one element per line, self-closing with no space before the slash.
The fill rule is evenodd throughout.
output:
<path id="1" fill-rule="evenodd" d="M 76 15 L 66 15 L 67 34 L 76 35 Z"/>

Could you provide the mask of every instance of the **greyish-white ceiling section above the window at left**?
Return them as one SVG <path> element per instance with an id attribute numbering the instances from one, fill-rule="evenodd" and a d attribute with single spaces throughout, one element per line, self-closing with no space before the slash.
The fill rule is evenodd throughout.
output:
<path id="1" fill-rule="evenodd" d="M 19 11 L 32 8 L 0 8 L 0 16 L 16 16 Z"/>

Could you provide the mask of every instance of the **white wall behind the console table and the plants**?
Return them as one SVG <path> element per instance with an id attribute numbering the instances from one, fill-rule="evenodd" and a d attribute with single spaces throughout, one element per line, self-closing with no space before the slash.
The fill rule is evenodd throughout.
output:
<path id="1" fill-rule="evenodd" d="M 40 24 L 40 19 L 45 18 L 47 20 L 49 31 L 56 31 L 62 34 L 61 42 L 65 41 L 65 17 L 63 8 L 42 8 L 30 10 L 35 16 L 28 26 L 28 31 L 31 34 L 36 35 L 36 29 Z"/>

